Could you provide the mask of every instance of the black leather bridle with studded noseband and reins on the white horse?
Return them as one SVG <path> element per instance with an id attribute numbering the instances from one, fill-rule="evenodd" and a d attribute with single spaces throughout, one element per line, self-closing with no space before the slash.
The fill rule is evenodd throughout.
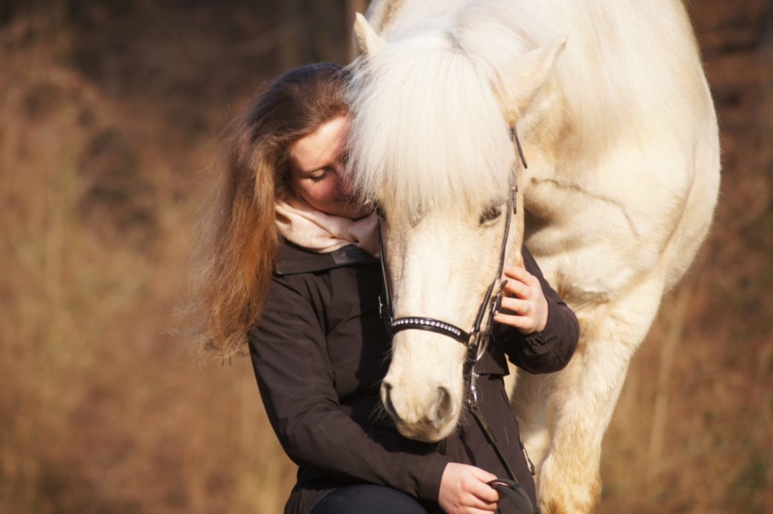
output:
<path id="1" fill-rule="evenodd" d="M 526 158 L 523 156 L 523 148 L 521 147 L 521 142 L 518 139 L 518 134 L 516 133 L 516 128 L 514 125 L 510 127 L 510 139 L 515 144 L 518 156 L 520 159 L 520 162 L 523 163 L 524 168 L 528 168 L 529 166 L 526 165 Z M 511 176 L 515 176 L 515 170 L 513 170 L 513 173 Z M 502 235 L 502 246 L 499 249 L 499 266 L 496 271 L 496 275 L 494 279 L 492 280 L 492 283 L 489 284 L 489 289 L 486 290 L 485 296 L 483 296 L 483 301 L 480 304 L 480 307 L 478 307 L 478 314 L 475 316 L 475 323 L 472 324 L 472 328 L 469 331 L 465 331 L 464 329 L 457 327 L 455 324 L 448 323 L 446 321 L 437 320 L 433 317 L 424 317 L 424 316 L 407 316 L 407 317 L 399 317 L 397 319 L 394 318 L 394 311 L 392 307 L 392 302 L 390 299 L 390 290 L 389 290 L 389 283 L 387 281 L 387 270 L 386 270 L 386 259 L 384 259 L 384 250 L 383 250 L 383 236 L 381 234 L 381 221 L 379 220 L 376 230 L 378 232 L 378 240 L 379 240 L 379 260 L 381 262 L 381 276 L 383 279 L 383 294 L 379 297 L 379 313 L 380 316 L 386 325 L 386 332 L 390 335 L 397 334 L 397 332 L 401 331 L 407 331 L 407 330 L 421 330 L 421 331 L 430 331 L 434 332 L 435 334 L 441 334 L 444 336 L 447 336 L 448 338 L 455 339 L 455 341 L 460 342 L 461 344 L 464 344 L 467 348 L 467 357 L 465 358 L 465 367 L 463 370 L 463 375 L 465 379 L 465 385 L 468 389 L 468 398 L 467 403 L 468 407 L 470 409 L 470 412 L 472 413 L 472 416 L 475 417 L 475 421 L 478 422 L 478 425 L 481 427 L 482 432 L 484 433 L 487 440 L 489 440 L 489 444 L 492 445 L 494 448 L 494 451 L 499 457 L 499 461 L 502 462 L 504 465 L 507 474 L 512 480 L 495 480 L 489 483 L 489 485 L 492 486 L 492 488 L 495 488 L 499 491 L 502 491 L 505 493 L 506 496 L 508 496 L 510 499 L 512 499 L 514 502 L 516 502 L 516 505 L 518 505 L 521 512 L 524 514 L 530 514 L 531 512 L 534 512 L 531 500 L 529 499 L 529 496 L 526 495 L 526 492 L 523 491 L 523 488 L 520 487 L 518 484 L 518 479 L 516 478 L 515 472 L 510 467 L 510 464 L 507 462 L 505 455 L 502 453 L 502 451 L 499 449 L 499 446 L 496 444 L 496 439 L 494 437 L 494 433 L 492 433 L 491 429 L 489 428 L 489 423 L 486 423 L 485 417 L 483 416 L 483 413 L 478 408 L 478 387 L 477 387 L 477 379 L 478 374 L 475 373 L 475 363 L 480 360 L 483 353 L 485 352 L 486 348 L 488 348 L 489 345 L 489 335 L 491 331 L 491 325 L 492 325 L 492 318 L 497 314 L 499 311 L 499 308 L 502 305 L 502 287 L 504 287 L 506 281 L 502 281 L 502 283 L 499 283 L 499 277 L 502 276 L 502 271 L 505 266 L 505 256 L 507 253 L 507 240 L 509 238 L 509 232 L 510 232 L 510 220 L 512 218 L 513 214 L 517 214 L 518 212 L 518 206 L 517 206 L 517 200 L 516 200 L 516 194 L 518 193 L 518 186 L 513 183 L 510 187 L 510 195 L 507 200 L 507 218 L 505 220 L 505 231 Z M 499 290 L 494 295 L 492 300 L 492 293 L 494 292 L 494 288 L 499 283 Z M 487 327 L 489 328 L 489 331 L 485 334 L 481 331 L 481 326 L 483 323 L 483 318 L 485 317 L 485 314 L 488 312 L 489 314 L 489 322 L 487 324 Z M 523 440 L 520 440 L 519 437 L 519 444 L 521 447 L 521 450 L 523 451 L 523 454 L 526 456 L 526 461 L 528 464 L 530 464 L 530 471 L 531 474 L 534 475 L 534 466 L 531 463 L 531 460 L 529 459 L 529 456 L 526 455 L 526 447 L 523 446 Z"/>

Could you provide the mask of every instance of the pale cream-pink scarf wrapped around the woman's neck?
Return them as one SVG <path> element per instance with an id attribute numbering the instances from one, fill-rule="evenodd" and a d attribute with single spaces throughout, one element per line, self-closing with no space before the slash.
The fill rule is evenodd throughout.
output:
<path id="1" fill-rule="evenodd" d="M 290 197 L 276 205 L 279 233 L 288 241 L 312 252 L 329 253 L 346 245 L 378 255 L 376 214 L 350 220 L 317 211 L 305 200 Z"/>

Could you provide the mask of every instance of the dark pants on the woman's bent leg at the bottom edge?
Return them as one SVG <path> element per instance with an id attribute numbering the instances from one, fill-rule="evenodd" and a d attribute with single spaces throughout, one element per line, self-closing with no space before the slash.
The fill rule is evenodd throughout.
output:
<path id="1" fill-rule="evenodd" d="M 427 514 L 416 499 L 383 485 L 345 485 L 319 500 L 311 514 Z"/>

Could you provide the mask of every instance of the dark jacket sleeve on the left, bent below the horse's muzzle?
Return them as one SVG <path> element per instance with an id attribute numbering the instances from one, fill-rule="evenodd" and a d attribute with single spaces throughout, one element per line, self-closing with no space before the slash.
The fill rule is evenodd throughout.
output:
<path id="1" fill-rule="evenodd" d="M 450 459 L 397 430 L 360 424 L 339 408 L 324 331 L 299 290 L 274 279 L 261 321 L 249 334 L 257 385 L 284 451 L 301 467 L 436 502 Z"/>

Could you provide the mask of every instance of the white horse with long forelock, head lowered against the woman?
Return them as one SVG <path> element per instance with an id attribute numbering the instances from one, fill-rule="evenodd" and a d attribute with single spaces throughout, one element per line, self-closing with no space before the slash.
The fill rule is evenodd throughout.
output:
<path id="1" fill-rule="evenodd" d="M 717 120 L 685 9 L 375 0 L 368 16 L 355 27 L 350 169 L 382 208 L 395 316 L 472 326 L 516 169 L 526 214 L 513 218 L 507 259 L 525 243 L 581 321 L 564 371 L 519 376 L 516 415 L 543 512 L 590 512 L 628 362 L 717 201 Z M 407 437 L 455 429 L 464 357 L 451 338 L 395 335 L 384 384 Z M 451 396 L 443 419 L 438 387 Z"/>

